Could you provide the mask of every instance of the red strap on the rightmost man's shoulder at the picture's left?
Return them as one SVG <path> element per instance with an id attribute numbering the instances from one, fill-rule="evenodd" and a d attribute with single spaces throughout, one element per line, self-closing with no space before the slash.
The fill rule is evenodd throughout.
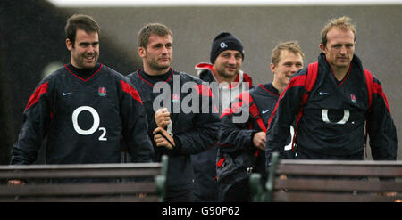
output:
<path id="1" fill-rule="evenodd" d="M 300 110 L 298 110 L 298 113 L 297 113 L 297 118 L 296 118 L 296 123 L 295 123 L 295 134 L 293 135 L 293 140 L 292 140 L 292 150 L 294 149 L 295 138 L 296 138 L 296 129 L 298 126 L 298 122 L 300 121 L 300 118 L 303 115 L 303 107 L 306 105 L 308 96 L 310 95 L 310 92 L 314 87 L 315 80 L 317 79 L 317 75 L 318 75 L 318 62 L 316 61 L 316 62 L 308 64 L 306 82 L 305 82 L 305 92 L 303 93 L 302 101 L 300 102 Z"/>

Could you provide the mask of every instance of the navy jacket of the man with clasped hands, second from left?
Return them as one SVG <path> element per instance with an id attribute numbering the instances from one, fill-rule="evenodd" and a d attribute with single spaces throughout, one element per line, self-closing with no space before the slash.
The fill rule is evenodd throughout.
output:
<path id="1" fill-rule="evenodd" d="M 218 140 L 220 120 L 211 89 L 203 84 L 202 80 L 174 69 L 170 69 L 162 77 L 149 76 L 143 69 L 138 69 L 130 73 L 128 77 L 132 84 L 138 88 L 138 93 L 147 110 L 149 124 L 147 134 L 154 144 L 155 161 L 160 161 L 162 155 L 169 156 L 166 197 L 175 197 L 186 191 L 194 191 L 195 180 L 190 155 L 206 151 L 214 146 L 214 143 Z M 155 80 L 155 82 L 151 80 Z M 171 93 L 168 94 L 164 89 L 160 89 L 163 86 L 169 87 Z M 163 103 L 171 108 L 171 132 L 176 144 L 173 150 L 156 147 L 153 141 L 153 131 L 157 127 L 154 102 L 159 105 L 165 94 L 169 96 L 167 97 L 167 103 L 164 103 L 164 101 Z M 185 102 L 188 102 L 188 98 L 194 94 L 197 94 L 199 103 L 193 100 L 192 106 L 197 105 L 199 111 L 194 112 L 191 110 L 185 113 L 181 108 Z M 205 105 L 208 109 L 204 110 L 204 112 L 201 110 L 203 100 L 208 102 Z M 175 113 L 175 109 L 180 110 L 180 112 Z M 169 126 L 166 129 L 169 130 Z"/>

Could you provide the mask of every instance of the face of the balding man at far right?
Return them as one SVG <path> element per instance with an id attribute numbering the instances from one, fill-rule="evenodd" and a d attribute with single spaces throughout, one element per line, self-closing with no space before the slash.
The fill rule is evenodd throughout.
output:
<path id="1" fill-rule="evenodd" d="M 320 44 L 331 68 L 348 69 L 355 53 L 355 35 L 350 29 L 331 28 L 327 33 L 326 45 Z"/>

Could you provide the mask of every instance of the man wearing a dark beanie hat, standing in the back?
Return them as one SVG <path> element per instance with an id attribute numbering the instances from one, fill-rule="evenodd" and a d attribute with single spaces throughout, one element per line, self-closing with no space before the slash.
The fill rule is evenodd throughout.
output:
<path id="1" fill-rule="evenodd" d="M 229 32 L 221 32 L 214 37 L 210 61 L 196 65 L 197 76 L 215 85 L 212 92 L 217 97 L 218 111 L 222 114 L 231 101 L 252 87 L 251 77 L 241 70 L 244 49 L 239 37 Z M 219 190 L 215 180 L 217 144 L 208 151 L 191 155 L 198 186 L 197 201 L 218 201 Z"/>

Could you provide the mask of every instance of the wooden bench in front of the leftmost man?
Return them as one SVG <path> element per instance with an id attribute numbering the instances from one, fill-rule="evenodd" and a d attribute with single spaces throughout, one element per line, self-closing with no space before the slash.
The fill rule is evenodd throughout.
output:
<path id="1" fill-rule="evenodd" d="M 161 163 L 0 166 L 0 201 L 163 201 L 167 156 Z M 108 183 L 46 183 L 102 178 Z M 7 179 L 23 179 L 7 185 Z M 115 181 L 115 180 L 123 181 Z M 48 181 L 47 181 L 48 182 Z"/>

